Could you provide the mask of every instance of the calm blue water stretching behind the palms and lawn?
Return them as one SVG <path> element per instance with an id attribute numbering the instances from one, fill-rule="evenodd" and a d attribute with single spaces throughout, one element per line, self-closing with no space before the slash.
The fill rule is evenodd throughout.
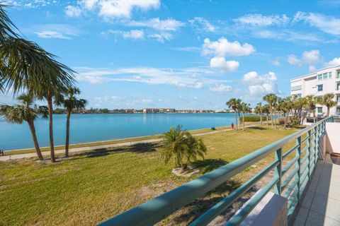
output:
<path id="1" fill-rule="evenodd" d="M 226 126 L 234 121 L 234 114 L 72 114 L 70 143 L 107 141 L 164 133 L 173 125 L 183 129 L 203 129 Z M 53 117 L 55 145 L 63 145 L 66 115 Z M 40 146 L 49 145 L 48 121 L 35 121 Z M 33 141 L 26 123 L 9 124 L 0 119 L 0 149 L 33 148 Z"/>

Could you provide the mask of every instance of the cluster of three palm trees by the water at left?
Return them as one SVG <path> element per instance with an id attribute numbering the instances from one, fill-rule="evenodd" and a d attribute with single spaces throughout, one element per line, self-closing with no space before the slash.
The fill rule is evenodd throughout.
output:
<path id="1" fill-rule="evenodd" d="M 9 90 L 19 104 L 1 105 L 0 111 L 11 123 L 28 123 L 39 160 L 43 160 L 34 120 L 41 115 L 49 120 L 50 156 L 55 162 L 53 140 L 53 104 L 67 109 L 65 155 L 69 147 L 69 119 L 74 109 L 84 108 L 86 100 L 78 99 L 79 88 L 75 86 L 76 73 L 56 60 L 37 43 L 21 37 L 18 28 L 7 16 L 6 5 L 0 3 L 0 93 Z M 21 94 L 21 95 L 20 95 Z M 34 100 L 45 100 L 47 106 L 34 107 Z"/>

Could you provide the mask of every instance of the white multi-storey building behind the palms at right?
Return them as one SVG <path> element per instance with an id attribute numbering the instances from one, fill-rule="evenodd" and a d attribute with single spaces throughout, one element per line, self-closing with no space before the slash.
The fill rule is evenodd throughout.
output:
<path id="1" fill-rule="evenodd" d="M 307 95 L 322 96 L 326 93 L 334 93 L 334 100 L 338 103 L 330 109 L 329 114 L 340 114 L 340 65 L 319 69 L 305 76 L 290 80 L 290 94 L 305 97 Z M 318 117 L 327 114 L 327 107 L 317 105 Z"/>

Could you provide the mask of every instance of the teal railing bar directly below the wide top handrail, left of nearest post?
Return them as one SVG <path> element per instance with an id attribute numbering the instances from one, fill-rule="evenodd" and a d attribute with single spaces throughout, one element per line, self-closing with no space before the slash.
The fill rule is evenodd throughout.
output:
<path id="1" fill-rule="evenodd" d="M 271 163 L 268 167 L 265 169 L 262 169 L 261 172 L 256 174 L 254 177 L 251 177 L 248 182 L 245 184 L 242 184 L 238 189 L 233 191 L 231 194 L 229 194 L 227 197 L 223 198 L 220 202 L 218 202 L 215 206 L 210 208 L 207 212 L 205 212 L 203 215 L 201 215 L 199 218 L 197 218 L 195 221 L 191 222 L 191 226 L 195 225 L 208 225 L 208 223 L 211 220 L 214 220 L 217 215 L 220 215 L 225 209 L 227 209 L 230 204 L 232 204 L 234 201 L 237 200 L 237 198 L 241 197 L 246 191 L 248 191 L 251 186 L 254 186 L 256 182 L 259 181 L 264 175 L 268 174 L 268 172 L 273 169 L 273 167 L 276 167 L 279 164 L 279 161 L 275 161 Z"/>

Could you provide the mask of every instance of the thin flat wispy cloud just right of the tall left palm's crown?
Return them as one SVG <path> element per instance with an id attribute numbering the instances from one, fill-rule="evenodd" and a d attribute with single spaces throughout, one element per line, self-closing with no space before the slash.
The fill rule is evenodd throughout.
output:
<path id="1" fill-rule="evenodd" d="M 80 35 L 80 31 L 77 28 L 64 24 L 35 25 L 32 28 L 29 28 L 29 30 L 29 32 L 45 39 L 70 40 L 72 37 Z"/>

